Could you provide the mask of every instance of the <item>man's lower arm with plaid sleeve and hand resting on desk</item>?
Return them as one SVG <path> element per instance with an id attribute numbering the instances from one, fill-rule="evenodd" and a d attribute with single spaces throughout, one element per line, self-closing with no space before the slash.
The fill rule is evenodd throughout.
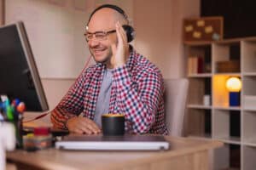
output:
<path id="1" fill-rule="evenodd" d="M 59 105 L 51 111 L 51 122 L 54 127 L 68 129 L 73 133 L 100 133 L 101 129 L 96 122 L 79 116 L 84 109 L 84 84 L 86 82 L 84 74 L 82 71 Z"/>

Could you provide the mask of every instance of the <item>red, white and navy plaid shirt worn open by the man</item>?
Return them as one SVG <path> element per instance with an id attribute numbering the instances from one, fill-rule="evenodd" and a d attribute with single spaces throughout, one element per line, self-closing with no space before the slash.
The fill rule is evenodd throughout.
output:
<path id="1" fill-rule="evenodd" d="M 81 112 L 93 120 L 104 69 L 106 65 L 101 63 L 84 68 L 59 105 L 51 111 L 54 127 L 67 129 L 67 120 Z M 160 70 L 131 50 L 127 63 L 112 72 L 109 113 L 124 113 L 125 130 L 131 133 L 167 134 Z"/>

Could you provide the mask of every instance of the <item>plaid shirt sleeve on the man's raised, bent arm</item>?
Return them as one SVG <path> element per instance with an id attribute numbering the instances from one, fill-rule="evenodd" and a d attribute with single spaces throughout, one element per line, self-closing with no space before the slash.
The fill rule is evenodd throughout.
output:
<path id="1" fill-rule="evenodd" d="M 117 86 L 119 110 L 125 113 L 132 132 L 148 133 L 164 90 L 160 72 L 142 71 L 137 82 L 133 82 L 127 66 L 123 65 L 113 70 L 113 81 Z"/>

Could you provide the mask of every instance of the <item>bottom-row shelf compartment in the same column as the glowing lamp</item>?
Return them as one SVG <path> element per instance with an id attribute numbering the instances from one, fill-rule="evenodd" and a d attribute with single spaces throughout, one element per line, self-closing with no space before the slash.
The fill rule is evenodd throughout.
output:
<path id="1" fill-rule="evenodd" d="M 241 169 L 241 146 L 224 144 L 224 147 L 213 150 L 214 169 Z"/>

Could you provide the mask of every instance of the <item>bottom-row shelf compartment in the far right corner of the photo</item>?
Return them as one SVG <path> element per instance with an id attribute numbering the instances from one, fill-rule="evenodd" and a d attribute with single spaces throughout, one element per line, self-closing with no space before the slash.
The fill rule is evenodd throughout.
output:
<path id="1" fill-rule="evenodd" d="M 256 167 L 256 147 L 243 146 L 242 147 L 242 169 L 243 170 L 254 170 Z"/>

